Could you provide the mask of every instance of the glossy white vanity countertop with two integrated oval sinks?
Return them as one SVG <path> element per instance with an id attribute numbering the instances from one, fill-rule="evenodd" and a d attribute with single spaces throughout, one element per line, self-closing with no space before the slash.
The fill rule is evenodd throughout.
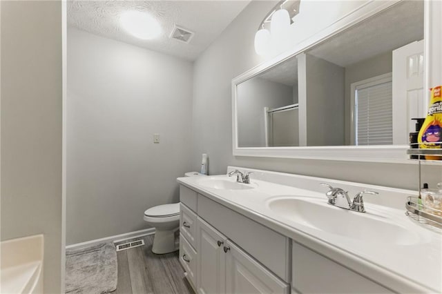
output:
<path id="1" fill-rule="evenodd" d="M 228 171 L 235 168 L 229 166 Z M 441 233 L 405 215 L 407 196 L 416 191 L 247 171 L 253 172 L 250 184 L 227 175 L 184 177 L 178 182 L 289 237 L 293 244 L 389 285 L 396 292 L 442 293 Z M 379 194 L 367 195 L 366 212 L 362 213 L 329 204 L 330 195 L 321 183 L 349 190 L 350 199 L 363 190 Z"/>

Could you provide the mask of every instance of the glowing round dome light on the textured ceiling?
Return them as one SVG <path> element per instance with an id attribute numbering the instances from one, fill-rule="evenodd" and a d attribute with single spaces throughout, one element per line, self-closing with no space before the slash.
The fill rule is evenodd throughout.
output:
<path id="1" fill-rule="evenodd" d="M 131 35 L 149 40 L 161 34 L 160 23 L 151 15 L 140 11 L 127 11 L 119 16 L 124 30 Z"/>

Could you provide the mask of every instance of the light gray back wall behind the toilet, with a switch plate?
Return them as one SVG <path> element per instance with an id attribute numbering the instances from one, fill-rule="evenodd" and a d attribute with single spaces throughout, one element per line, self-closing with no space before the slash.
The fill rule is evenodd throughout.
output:
<path id="1" fill-rule="evenodd" d="M 66 244 L 148 228 L 144 210 L 179 201 L 192 87 L 189 61 L 68 30 Z"/>

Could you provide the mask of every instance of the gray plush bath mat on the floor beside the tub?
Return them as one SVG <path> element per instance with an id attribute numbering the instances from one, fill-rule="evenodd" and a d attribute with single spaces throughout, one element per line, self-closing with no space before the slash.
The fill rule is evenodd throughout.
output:
<path id="1" fill-rule="evenodd" d="M 108 293 L 117 288 L 117 251 L 112 243 L 66 250 L 66 293 Z"/>

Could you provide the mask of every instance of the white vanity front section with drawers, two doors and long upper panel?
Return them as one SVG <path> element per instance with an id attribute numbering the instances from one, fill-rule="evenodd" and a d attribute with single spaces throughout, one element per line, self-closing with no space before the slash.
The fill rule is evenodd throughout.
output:
<path id="1" fill-rule="evenodd" d="M 198 293 L 289 293 L 287 237 L 185 186 L 180 186 L 180 200 L 180 262 Z M 276 235 L 279 238 L 275 239 Z M 189 239 L 194 240 L 195 247 Z M 250 255 L 239 244 L 262 256 Z M 268 251 L 273 245 L 283 251 Z M 274 260 L 275 255 L 282 260 L 282 266 Z M 264 260 L 266 266 L 257 259 Z M 283 277 L 275 275 L 269 267 Z"/>

